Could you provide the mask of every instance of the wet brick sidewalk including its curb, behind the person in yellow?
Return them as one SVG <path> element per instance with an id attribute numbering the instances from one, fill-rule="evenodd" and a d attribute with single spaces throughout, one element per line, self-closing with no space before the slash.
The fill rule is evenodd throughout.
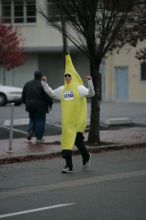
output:
<path id="1" fill-rule="evenodd" d="M 85 140 L 88 133 L 85 133 Z M 45 137 L 44 144 L 36 144 L 35 139 L 28 143 L 25 138 L 13 139 L 12 150 L 9 150 L 9 139 L 0 140 L 0 164 L 28 160 L 53 158 L 61 155 L 60 135 Z M 132 127 L 100 132 L 101 146 L 87 146 L 90 152 L 98 153 L 123 148 L 146 147 L 146 128 Z M 74 153 L 77 153 L 74 148 Z"/>

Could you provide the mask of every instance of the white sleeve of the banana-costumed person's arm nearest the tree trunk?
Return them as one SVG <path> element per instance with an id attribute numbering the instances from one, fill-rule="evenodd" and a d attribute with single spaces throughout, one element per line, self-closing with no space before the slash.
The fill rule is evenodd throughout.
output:
<path id="1" fill-rule="evenodd" d="M 88 88 L 82 85 L 78 86 L 78 90 L 81 98 L 85 96 L 92 97 L 95 95 L 92 79 L 87 80 L 87 84 L 88 84 Z"/>

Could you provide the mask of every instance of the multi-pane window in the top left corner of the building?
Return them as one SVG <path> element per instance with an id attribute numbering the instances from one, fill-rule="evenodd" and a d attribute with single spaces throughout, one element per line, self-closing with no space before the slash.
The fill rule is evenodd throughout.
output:
<path id="1" fill-rule="evenodd" d="M 1 0 L 4 23 L 35 23 L 36 0 Z"/>

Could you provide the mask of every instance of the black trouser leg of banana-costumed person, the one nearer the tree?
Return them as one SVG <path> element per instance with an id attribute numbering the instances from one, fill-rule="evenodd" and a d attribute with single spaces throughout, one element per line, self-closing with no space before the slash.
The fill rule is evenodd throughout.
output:
<path id="1" fill-rule="evenodd" d="M 82 155 L 83 162 L 86 162 L 89 159 L 90 155 L 87 148 L 85 147 L 83 133 L 77 132 L 75 145 L 77 146 Z"/>

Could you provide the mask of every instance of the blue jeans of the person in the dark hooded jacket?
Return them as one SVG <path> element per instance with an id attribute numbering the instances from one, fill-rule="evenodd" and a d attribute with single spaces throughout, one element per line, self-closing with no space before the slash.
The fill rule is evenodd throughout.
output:
<path id="1" fill-rule="evenodd" d="M 28 132 L 35 134 L 37 140 L 44 136 L 46 113 L 29 113 Z"/>

